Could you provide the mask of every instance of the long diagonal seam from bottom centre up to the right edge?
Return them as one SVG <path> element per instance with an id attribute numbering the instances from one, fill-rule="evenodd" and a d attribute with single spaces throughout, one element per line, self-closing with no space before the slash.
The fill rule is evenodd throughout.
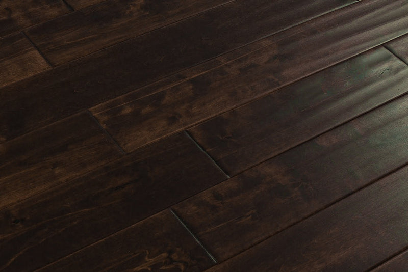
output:
<path id="1" fill-rule="evenodd" d="M 377 182 L 377 181 L 379 181 L 379 180 L 381 180 L 381 179 L 383 179 L 383 178 L 385 178 L 385 177 L 387 177 L 387 176 L 393 174 L 394 172 L 397 172 L 398 170 L 400 170 L 400 169 L 402 169 L 402 168 L 404 168 L 404 167 L 406 167 L 406 166 L 408 166 L 408 161 L 405 162 L 403 165 L 398 166 L 398 167 L 396 167 L 396 168 L 390 170 L 389 172 L 385 173 L 384 175 L 379 176 L 378 178 L 372 180 L 371 182 L 365 184 L 364 186 L 361 186 L 360 188 L 355 189 L 354 191 L 352 191 L 352 192 L 350 192 L 350 193 L 348 193 L 348 194 L 342 196 L 341 198 L 338 198 L 338 199 L 334 200 L 333 202 L 330 202 L 329 204 L 327 204 L 327 205 L 321 207 L 320 209 L 317 209 L 317 210 L 315 210 L 314 212 L 312 212 L 312 213 L 310 213 L 310 214 L 308 214 L 308 215 L 302 217 L 300 220 L 298 220 L 298 221 L 296 221 L 296 222 L 294 222 L 294 223 L 292 223 L 292 224 L 286 226 L 285 228 L 283 228 L 283 229 L 281 229 L 281 230 L 279 230 L 279 231 L 277 231 L 277 232 L 275 232 L 275 233 L 273 233 L 273 234 L 271 234 L 271 235 L 268 235 L 265 239 L 262 239 L 262 240 L 260 240 L 260 241 L 258 241 L 258 242 L 256 242 L 256 243 L 251 244 L 251 246 L 249 246 L 248 248 L 245 248 L 245 249 L 243 249 L 242 251 L 238 252 L 237 254 L 232 255 L 230 258 L 227 258 L 227 259 L 223 260 L 223 262 L 225 262 L 225 261 L 227 261 L 227 260 L 229 260 L 229 259 L 231 259 L 231 258 L 233 258 L 233 257 L 236 257 L 236 256 L 238 256 L 238 255 L 240 255 L 240 254 L 243 254 L 243 253 L 246 252 L 247 250 L 249 250 L 249 249 L 251 249 L 251 248 L 253 248 L 253 247 L 256 247 L 256 246 L 257 246 L 258 244 L 260 244 L 260 243 L 265 242 L 265 241 L 268 240 L 269 238 L 271 238 L 271 237 L 273 237 L 273 236 L 275 236 L 275 235 L 277 235 L 277 234 L 279 234 L 279 233 L 281 233 L 281 232 L 283 232 L 283 231 L 285 231 L 285 230 L 290 229 L 291 227 L 293 227 L 293 226 L 295 226 L 295 225 L 301 223 L 301 222 L 304 221 L 304 220 L 309 219 L 309 218 L 312 217 L 313 215 L 316 215 L 317 213 L 319 213 L 319 212 L 321 212 L 321 211 L 323 211 L 323 210 L 325 210 L 325 209 L 327 209 L 327 208 L 329 208 L 329 207 L 331 207 L 331 206 L 337 204 L 338 202 L 340 202 L 340 201 L 342 201 L 342 200 L 344 200 L 344 199 L 350 197 L 351 195 L 353 195 L 353 194 L 355 194 L 355 193 L 358 193 L 358 192 L 360 192 L 360 191 L 363 191 L 365 188 L 367 188 L 367 187 L 373 185 L 375 182 Z M 211 188 L 208 188 L 208 189 L 211 189 Z M 207 189 L 207 190 L 208 190 L 208 189 Z M 207 191 L 207 190 L 206 190 L 206 191 Z M 197 195 L 198 195 L 198 194 L 197 194 Z M 193 196 L 193 197 L 194 197 L 194 196 Z M 408 249 L 408 247 L 407 247 L 406 249 Z M 405 248 L 404 248 L 403 250 L 401 250 L 401 251 L 398 251 L 398 253 L 395 254 L 395 256 L 398 255 L 398 254 L 400 254 L 400 253 L 402 253 L 404 250 L 405 250 Z M 223 262 L 222 262 L 222 263 L 223 263 Z M 375 268 L 375 267 L 373 267 L 373 268 Z"/>

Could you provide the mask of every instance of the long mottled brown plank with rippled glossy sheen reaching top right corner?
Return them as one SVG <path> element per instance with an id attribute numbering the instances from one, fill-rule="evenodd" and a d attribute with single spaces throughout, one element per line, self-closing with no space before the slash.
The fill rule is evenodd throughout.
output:
<path id="1" fill-rule="evenodd" d="M 264 47 L 179 85 L 140 99 L 131 92 L 91 111 L 129 152 L 405 33 L 407 9 L 401 1 L 351 5 L 273 35 Z"/>

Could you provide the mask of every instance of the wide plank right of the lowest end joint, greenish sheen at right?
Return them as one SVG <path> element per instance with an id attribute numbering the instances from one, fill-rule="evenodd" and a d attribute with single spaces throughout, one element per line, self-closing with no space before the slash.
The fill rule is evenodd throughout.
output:
<path id="1" fill-rule="evenodd" d="M 405 95 L 174 210 L 223 261 L 408 162 L 407 124 Z"/>

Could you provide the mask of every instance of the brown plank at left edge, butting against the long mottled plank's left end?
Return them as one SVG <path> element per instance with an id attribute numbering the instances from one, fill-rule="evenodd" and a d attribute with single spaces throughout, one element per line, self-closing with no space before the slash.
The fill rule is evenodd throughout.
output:
<path id="1" fill-rule="evenodd" d="M 88 113 L 0 145 L 0 208 L 121 157 Z"/>

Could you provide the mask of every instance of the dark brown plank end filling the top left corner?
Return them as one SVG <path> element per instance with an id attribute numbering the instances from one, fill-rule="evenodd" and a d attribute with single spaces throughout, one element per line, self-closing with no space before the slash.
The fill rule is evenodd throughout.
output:
<path id="1" fill-rule="evenodd" d="M 0 2 L 0 37 L 70 12 L 61 0 L 3 0 Z"/>

